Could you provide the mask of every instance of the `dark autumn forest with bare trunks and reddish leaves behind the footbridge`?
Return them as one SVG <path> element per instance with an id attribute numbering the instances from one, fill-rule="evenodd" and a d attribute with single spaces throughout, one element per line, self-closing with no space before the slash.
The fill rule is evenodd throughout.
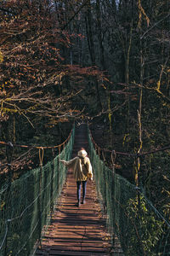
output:
<path id="1" fill-rule="evenodd" d="M 135 155 L 116 172 L 170 220 L 169 0 L 1 0 L 0 102 L 1 143 L 57 145 L 88 121 L 99 148 Z M 14 147 L 13 180 L 37 154 Z"/>

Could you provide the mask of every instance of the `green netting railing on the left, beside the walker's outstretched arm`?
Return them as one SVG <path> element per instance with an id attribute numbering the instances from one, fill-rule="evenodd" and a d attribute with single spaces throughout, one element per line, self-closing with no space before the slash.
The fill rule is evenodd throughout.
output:
<path id="1" fill-rule="evenodd" d="M 61 166 L 59 159 L 71 158 L 74 133 L 73 127 L 69 140 L 65 141 L 63 150 L 54 160 L 42 166 L 43 148 L 39 148 L 40 167 L 26 172 L 12 183 L 3 184 L 0 190 L 1 256 L 30 256 L 34 255 L 37 246 L 41 246 L 54 201 L 57 203 L 65 183 L 66 167 Z"/>

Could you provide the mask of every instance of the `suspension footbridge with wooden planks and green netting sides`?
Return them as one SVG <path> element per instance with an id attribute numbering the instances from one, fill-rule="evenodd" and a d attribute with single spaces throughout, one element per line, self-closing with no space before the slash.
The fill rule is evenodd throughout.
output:
<path id="1" fill-rule="evenodd" d="M 62 147 L 61 147 L 62 146 Z M 76 203 L 71 170 L 60 164 L 87 148 L 94 169 L 87 202 Z M 105 166 L 88 125 L 72 129 L 54 160 L 0 190 L 0 255 L 170 255 L 170 224 L 137 188 Z"/>

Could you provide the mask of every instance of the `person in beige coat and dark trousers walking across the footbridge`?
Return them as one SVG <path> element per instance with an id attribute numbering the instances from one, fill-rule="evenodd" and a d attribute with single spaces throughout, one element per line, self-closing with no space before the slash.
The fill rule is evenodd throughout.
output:
<path id="1" fill-rule="evenodd" d="M 84 148 L 78 151 L 75 158 L 65 161 L 60 160 L 65 166 L 73 169 L 73 175 L 77 182 L 77 207 L 80 207 L 81 183 L 82 183 L 82 204 L 85 203 L 86 184 L 88 178 L 93 180 L 93 172 L 88 153 Z"/>

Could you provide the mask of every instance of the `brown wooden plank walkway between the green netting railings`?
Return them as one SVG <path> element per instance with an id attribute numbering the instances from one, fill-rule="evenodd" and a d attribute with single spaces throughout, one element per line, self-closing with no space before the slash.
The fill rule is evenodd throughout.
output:
<path id="1" fill-rule="evenodd" d="M 76 131 L 73 157 L 80 147 L 88 147 L 84 126 Z M 110 236 L 100 212 L 94 182 L 87 183 L 86 204 L 77 207 L 77 186 L 71 170 L 68 171 L 59 206 L 55 208 L 42 239 L 42 248 L 37 249 L 36 256 L 42 255 L 123 255 L 119 242 L 111 253 Z"/>

